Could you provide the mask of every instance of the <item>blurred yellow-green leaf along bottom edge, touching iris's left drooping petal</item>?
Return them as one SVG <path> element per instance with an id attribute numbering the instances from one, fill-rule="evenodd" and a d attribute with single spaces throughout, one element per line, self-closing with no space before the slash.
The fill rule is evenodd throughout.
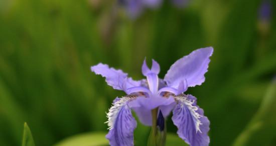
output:
<path id="1" fill-rule="evenodd" d="M 108 145 L 108 140 L 105 138 L 104 132 L 89 132 L 77 134 L 68 137 L 55 146 L 90 146 L 90 145 Z"/>

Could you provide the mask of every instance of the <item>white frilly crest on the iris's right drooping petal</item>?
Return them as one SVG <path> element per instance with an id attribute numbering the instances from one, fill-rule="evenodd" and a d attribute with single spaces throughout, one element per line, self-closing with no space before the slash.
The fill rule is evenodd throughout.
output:
<path id="1" fill-rule="evenodd" d="M 200 118 L 202 117 L 202 115 L 200 115 L 197 112 L 198 107 L 193 105 L 195 100 L 192 100 L 192 101 L 189 100 L 188 95 L 186 95 L 186 94 L 177 95 L 177 96 L 175 96 L 175 99 L 181 104 L 181 107 L 184 107 L 184 106 L 188 107 L 188 109 L 190 110 L 191 115 L 193 117 L 194 123 L 195 123 L 196 132 L 198 132 L 198 131 L 201 132 L 199 126 L 202 124 L 200 121 Z"/>

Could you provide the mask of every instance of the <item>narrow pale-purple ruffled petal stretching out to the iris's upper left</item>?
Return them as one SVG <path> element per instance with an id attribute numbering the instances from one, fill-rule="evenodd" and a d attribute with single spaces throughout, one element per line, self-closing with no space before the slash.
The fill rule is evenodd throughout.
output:
<path id="1" fill-rule="evenodd" d="M 141 81 L 132 80 L 131 77 L 127 77 L 127 73 L 124 73 L 120 69 L 109 68 L 107 64 L 99 63 L 91 66 L 91 70 L 105 77 L 107 84 L 114 89 L 124 90 L 125 88 L 139 86 L 141 84 Z"/>

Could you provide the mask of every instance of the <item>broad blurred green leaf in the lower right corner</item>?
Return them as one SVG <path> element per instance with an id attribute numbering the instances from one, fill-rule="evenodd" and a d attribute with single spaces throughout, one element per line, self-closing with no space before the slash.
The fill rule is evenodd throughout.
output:
<path id="1" fill-rule="evenodd" d="M 269 145 L 276 137 L 276 80 L 273 80 L 261 105 L 247 127 L 234 142 L 239 145 Z"/>

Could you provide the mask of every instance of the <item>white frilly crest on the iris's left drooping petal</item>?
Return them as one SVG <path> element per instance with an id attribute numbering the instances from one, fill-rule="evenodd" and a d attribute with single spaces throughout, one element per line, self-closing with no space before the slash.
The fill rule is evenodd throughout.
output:
<path id="1" fill-rule="evenodd" d="M 127 102 L 131 99 L 133 99 L 135 96 L 123 96 L 119 98 L 117 101 L 112 103 L 113 105 L 109 108 L 108 113 L 106 113 L 108 120 L 105 122 L 109 126 L 108 129 L 112 129 L 114 122 L 117 118 L 117 115 L 121 108 L 128 108 Z"/>

